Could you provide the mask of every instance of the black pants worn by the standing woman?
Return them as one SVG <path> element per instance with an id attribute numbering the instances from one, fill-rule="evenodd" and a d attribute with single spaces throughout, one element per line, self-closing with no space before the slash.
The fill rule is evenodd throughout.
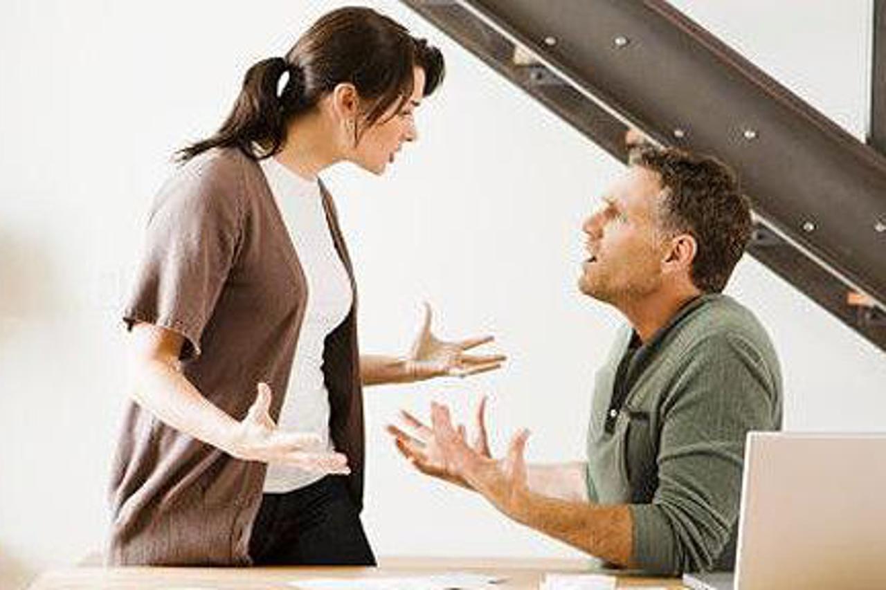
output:
<path id="1" fill-rule="evenodd" d="M 249 555 L 256 565 L 376 565 L 344 476 L 264 494 Z"/>

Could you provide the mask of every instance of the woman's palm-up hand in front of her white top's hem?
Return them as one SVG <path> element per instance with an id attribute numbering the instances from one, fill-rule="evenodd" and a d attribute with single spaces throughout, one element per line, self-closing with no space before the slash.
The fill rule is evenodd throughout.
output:
<path id="1" fill-rule="evenodd" d="M 323 473 L 351 472 L 347 457 L 326 451 L 316 434 L 288 432 L 277 428 L 269 413 L 271 390 L 268 384 L 258 385 L 258 395 L 246 417 L 237 423 L 228 453 L 243 461 L 260 461 L 290 465 Z"/>

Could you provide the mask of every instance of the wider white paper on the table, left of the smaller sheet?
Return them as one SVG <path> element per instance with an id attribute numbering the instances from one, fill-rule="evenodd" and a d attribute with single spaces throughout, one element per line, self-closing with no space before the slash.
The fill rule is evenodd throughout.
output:
<path id="1" fill-rule="evenodd" d="M 447 573 L 408 578 L 314 578 L 292 580 L 299 590 L 495 590 L 505 578 L 474 573 Z"/>

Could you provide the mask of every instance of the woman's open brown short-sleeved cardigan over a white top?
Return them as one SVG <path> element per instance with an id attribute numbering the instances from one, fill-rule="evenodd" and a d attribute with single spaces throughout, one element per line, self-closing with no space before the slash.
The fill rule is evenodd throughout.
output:
<path id="1" fill-rule="evenodd" d="M 323 188 L 338 254 L 354 272 Z M 182 371 L 206 398 L 242 419 L 266 381 L 271 416 L 283 405 L 305 313 L 307 283 L 258 164 L 234 149 L 211 150 L 160 191 L 144 260 L 124 320 L 184 337 Z M 326 338 L 323 373 L 330 435 L 363 487 L 363 413 L 356 291 L 346 320 Z M 159 422 L 130 402 L 113 462 L 112 564 L 246 565 L 266 466 L 243 462 Z"/>

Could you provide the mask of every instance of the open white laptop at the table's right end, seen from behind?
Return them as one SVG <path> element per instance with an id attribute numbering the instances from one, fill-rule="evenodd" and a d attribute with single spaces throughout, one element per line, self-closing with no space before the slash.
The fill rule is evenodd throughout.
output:
<path id="1" fill-rule="evenodd" d="M 697 590 L 886 588 L 886 433 L 750 432 L 735 573 Z"/>

